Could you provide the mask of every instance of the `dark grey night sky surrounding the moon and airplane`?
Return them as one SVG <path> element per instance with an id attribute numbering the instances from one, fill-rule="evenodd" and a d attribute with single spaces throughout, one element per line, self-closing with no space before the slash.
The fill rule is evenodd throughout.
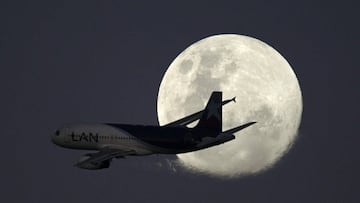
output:
<path id="1" fill-rule="evenodd" d="M 1 1 L 1 202 L 360 202 L 358 1 Z M 163 74 L 220 33 L 277 49 L 303 92 L 300 136 L 272 169 L 219 180 L 175 156 L 102 171 L 54 146 L 68 122 L 157 124 Z M 163 167 L 157 166 L 162 163 Z"/>

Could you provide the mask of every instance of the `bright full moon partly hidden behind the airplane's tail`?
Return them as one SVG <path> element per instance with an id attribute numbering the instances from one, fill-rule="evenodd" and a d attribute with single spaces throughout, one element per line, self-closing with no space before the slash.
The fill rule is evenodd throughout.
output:
<path id="1" fill-rule="evenodd" d="M 185 168 L 224 177 L 254 174 L 291 148 L 301 122 L 301 90 L 291 66 L 274 48 L 235 34 L 210 36 L 186 48 L 161 81 L 160 125 L 202 110 L 212 91 L 222 91 L 223 99 L 236 96 L 236 103 L 223 106 L 223 131 L 257 123 L 225 144 L 178 154 Z"/>

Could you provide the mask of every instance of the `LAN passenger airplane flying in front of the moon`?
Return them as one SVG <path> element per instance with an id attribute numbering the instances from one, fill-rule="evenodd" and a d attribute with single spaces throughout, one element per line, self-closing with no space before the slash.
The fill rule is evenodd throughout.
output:
<path id="1" fill-rule="evenodd" d="M 197 151 L 235 139 L 234 133 L 256 122 L 222 131 L 222 92 L 212 92 L 204 110 L 163 126 L 116 123 L 69 124 L 55 131 L 55 145 L 82 150 L 97 150 L 83 155 L 75 166 L 82 169 L 109 168 L 114 158 L 150 154 L 179 154 Z M 195 127 L 188 124 L 199 120 Z"/>

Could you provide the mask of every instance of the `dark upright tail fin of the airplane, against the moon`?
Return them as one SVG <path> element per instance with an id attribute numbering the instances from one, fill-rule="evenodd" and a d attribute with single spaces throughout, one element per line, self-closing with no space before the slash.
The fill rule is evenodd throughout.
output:
<path id="1" fill-rule="evenodd" d="M 215 136 L 222 132 L 222 92 L 212 92 L 195 128 L 206 128 L 216 134 Z"/>

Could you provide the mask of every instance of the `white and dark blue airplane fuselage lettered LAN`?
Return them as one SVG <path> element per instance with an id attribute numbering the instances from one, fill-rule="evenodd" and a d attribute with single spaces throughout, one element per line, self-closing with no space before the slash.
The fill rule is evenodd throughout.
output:
<path id="1" fill-rule="evenodd" d="M 55 132 L 53 143 L 72 149 L 108 147 L 132 151 L 130 155 L 178 154 L 210 147 L 202 143 L 206 129 L 127 124 L 73 124 Z M 213 146 L 213 145 L 211 145 Z"/>

